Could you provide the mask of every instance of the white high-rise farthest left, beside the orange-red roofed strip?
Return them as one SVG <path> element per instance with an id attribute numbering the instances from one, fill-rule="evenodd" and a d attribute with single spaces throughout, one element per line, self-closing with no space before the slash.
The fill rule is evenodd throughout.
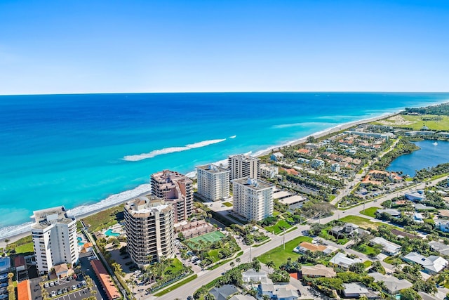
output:
<path id="1" fill-rule="evenodd" d="M 79 259 L 76 219 L 65 207 L 34 211 L 32 239 L 39 274 L 48 273 L 60 263 L 74 265 Z"/>

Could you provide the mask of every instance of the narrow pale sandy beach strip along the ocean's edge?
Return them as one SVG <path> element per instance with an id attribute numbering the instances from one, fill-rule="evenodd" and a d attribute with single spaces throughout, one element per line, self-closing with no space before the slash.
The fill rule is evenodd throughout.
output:
<path id="1" fill-rule="evenodd" d="M 361 119 L 359 121 L 354 121 L 354 122 L 349 122 L 349 123 L 345 123 L 345 124 L 340 124 L 338 126 L 334 126 L 334 127 L 330 128 L 330 129 L 326 129 L 326 130 L 323 130 L 323 131 L 319 131 L 319 132 L 313 133 L 313 134 L 311 134 L 311 136 L 314 136 L 314 138 L 321 138 L 323 136 L 327 136 L 329 134 L 336 133 L 338 131 L 349 129 L 349 128 L 353 127 L 353 126 L 358 126 L 360 124 L 366 124 L 366 123 L 369 123 L 369 122 L 375 122 L 375 121 L 380 120 L 380 119 L 387 119 L 387 118 L 392 117 L 392 116 L 397 115 L 397 114 L 398 114 L 398 112 L 394 112 L 394 113 L 391 113 L 391 114 L 381 115 L 381 116 L 373 117 L 373 118 L 370 118 L 370 119 Z M 307 137 L 308 136 L 304 136 L 302 138 L 299 138 L 299 139 L 297 139 L 295 141 L 291 141 L 291 142 L 283 144 L 283 145 L 276 145 L 276 146 L 274 146 L 272 148 L 269 148 L 267 150 L 263 150 L 262 152 L 257 153 L 257 156 L 260 157 L 260 156 L 267 155 L 270 152 L 272 152 L 272 150 L 276 151 L 276 150 L 279 150 L 280 148 L 283 148 L 283 147 L 285 147 L 287 145 L 298 145 L 298 144 L 301 144 L 301 143 L 305 143 L 307 141 Z M 149 191 L 150 191 L 149 188 L 146 188 L 146 187 L 143 187 L 140 190 L 135 190 L 136 193 L 130 193 L 131 191 L 124 191 L 123 193 L 120 193 L 118 195 L 126 194 L 126 193 L 129 193 L 129 194 L 132 194 L 132 195 L 128 195 L 129 197 L 123 197 L 119 201 L 116 201 L 116 202 L 114 202 L 112 204 L 109 204 L 109 205 L 105 205 L 105 206 L 99 207 L 98 209 L 94 208 L 91 211 L 89 211 L 88 213 L 76 214 L 77 208 L 71 209 L 69 211 L 72 211 L 74 213 L 74 215 L 76 216 L 76 219 L 82 219 L 82 218 L 85 218 L 86 216 L 91 216 L 93 214 L 96 214 L 96 213 L 98 213 L 98 211 L 102 211 L 102 210 L 108 209 L 110 207 L 115 207 L 115 206 L 117 206 L 117 205 L 119 205 L 121 203 L 128 202 L 129 200 L 133 200 L 135 197 L 139 197 L 140 195 L 146 195 L 147 193 L 149 193 Z M 118 195 L 112 195 L 111 197 L 116 197 Z M 101 206 L 100 203 L 101 202 L 98 202 L 98 206 Z M 26 237 L 30 233 L 31 233 L 31 231 L 27 230 L 25 232 L 18 233 L 16 235 L 11 235 L 9 237 L 2 237 L 1 240 L 0 240 L 0 247 L 1 248 L 6 247 L 6 242 L 4 242 L 4 240 L 6 238 L 10 240 L 10 242 L 8 242 L 8 244 L 11 244 L 11 243 L 19 240 L 22 237 Z"/>

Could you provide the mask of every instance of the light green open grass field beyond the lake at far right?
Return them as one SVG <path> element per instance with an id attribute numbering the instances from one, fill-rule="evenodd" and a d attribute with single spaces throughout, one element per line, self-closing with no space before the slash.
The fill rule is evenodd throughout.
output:
<path id="1" fill-rule="evenodd" d="M 397 124 L 394 119 L 386 119 L 389 122 L 389 126 L 400 127 L 400 128 L 412 128 L 413 130 L 420 130 L 424 123 L 429 130 L 447 131 L 449 130 L 449 117 L 443 115 L 423 115 L 423 116 L 409 116 L 400 115 L 404 121 L 410 124 Z M 434 119 L 432 119 L 434 118 Z M 376 122 L 379 123 L 379 122 Z M 379 123 L 380 124 L 380 123 Z"/>

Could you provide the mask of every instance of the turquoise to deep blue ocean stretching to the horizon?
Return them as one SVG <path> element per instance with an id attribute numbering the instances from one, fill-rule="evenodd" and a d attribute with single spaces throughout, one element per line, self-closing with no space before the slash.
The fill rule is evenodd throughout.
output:
<path id="1" fill-rule="evenodd" d="M 227 155 L 448 100 L 449 93 L 0 96 L 0 238 L 24 230 L 36 209 L 65 205 L 82 214 L 138 195 L 154 171 L 188 173 Z"/>

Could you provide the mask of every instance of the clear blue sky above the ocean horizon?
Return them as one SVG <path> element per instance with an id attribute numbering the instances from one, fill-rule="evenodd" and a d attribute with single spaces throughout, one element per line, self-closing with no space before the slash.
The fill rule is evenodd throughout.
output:
<path id="1" fill-rule="evenodd" d="M 0 0 L 0 94 L 449 91 L 449 1 Z"/>

